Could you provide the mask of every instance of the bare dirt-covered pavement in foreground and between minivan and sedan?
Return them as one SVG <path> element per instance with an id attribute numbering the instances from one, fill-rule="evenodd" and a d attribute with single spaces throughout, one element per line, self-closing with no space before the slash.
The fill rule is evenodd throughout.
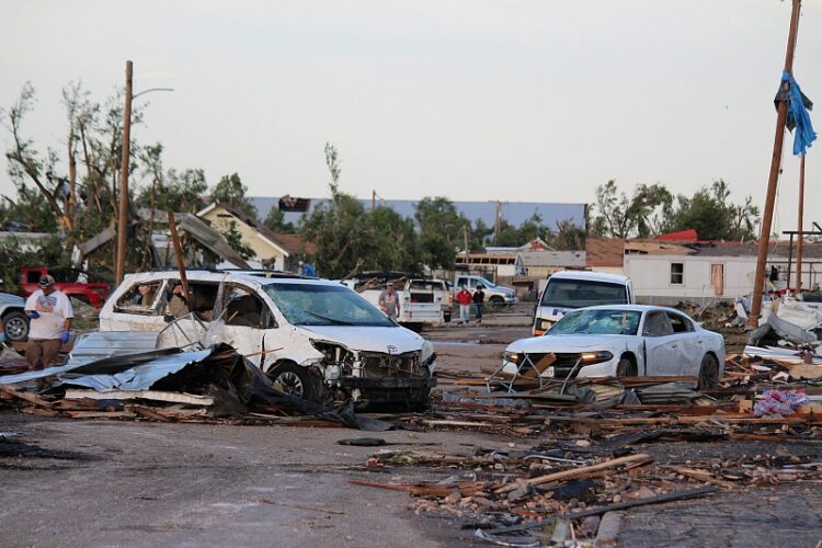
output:
<path id="1" fill-rule="evenodd" d="M 500 363 L 505 345 L 527 336 L 530 308 L 491 315 L 481 326 L 423 334 L 438 366 L 478 370 Z M 439 480 L 453 470 L 368 468 L 376 448 L 338 445 L 373 434 L 346 429 L 71 421 L 0 413 L 0 436 L 30 444 L 8 456 L 0 444 L 3 546 L 465 546 L 472 528 L 420 516 L 404 492 L 350 480 Z M 478 432 L 378 434 L 387 448 L 469 455 L 511 439 Z M 0 439 L 1 441 L 1 439 Z M 521 447 L 539 439 L 516 439 Z M 8 445 L 8 444 L 5 444 Z M 19 446 L 20 447 L 20 446 Z M 657 443 L 658 461 L 700 454 L 822 455 L 818 443 Z M 697 452 L 697 453 L 695 453 Z M 20 450 L 18 450 L 20 453 Z M 822 539 L 819 484 L 628 511 L 620 546 L 815 546 Z"/>

